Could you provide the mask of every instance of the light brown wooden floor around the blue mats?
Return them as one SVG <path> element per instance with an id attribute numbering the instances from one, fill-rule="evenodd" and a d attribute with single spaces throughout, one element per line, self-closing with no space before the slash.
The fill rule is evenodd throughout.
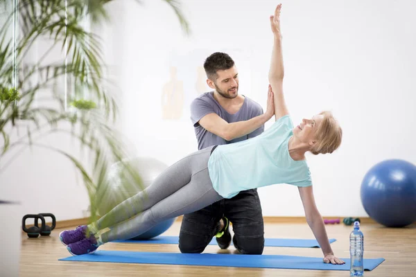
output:
<path id="1" fill-rule="evenodd" d="M 175 222 L 164 235 L 177 235 L 180 222 Z M 350 226 L 328 225 L 336 256 L 349 258 Z M 387 229 L 378 224 L 362 226 L 365 235 L 365 258 L 385 258 L 373 271 L 365 276 L 416 276 L 416 226 L 405 229 Z M 196 267 L 182 265 L 141 265 L 105 262 L 68 262 L 59 258 L 70 256 L 61 244 L 59 229 L 50 237 L 30 239 L 22 236 L 20 276 L 349 276 L 349 271 L 317 271 L 300 269 L 247 269 L 236 267 Z M 266 238 L 304 238 L 313 235 L 306 224 L 266 224 Z M 101 250 L 179 252 L 175 244 L 122 244 L 108 243 Z M 234 247 L 219 250 L 208 246 L 205 253 L 235 254 Z M 265 247 L 263 254 L 322 257 L 320 249 Z"/>

